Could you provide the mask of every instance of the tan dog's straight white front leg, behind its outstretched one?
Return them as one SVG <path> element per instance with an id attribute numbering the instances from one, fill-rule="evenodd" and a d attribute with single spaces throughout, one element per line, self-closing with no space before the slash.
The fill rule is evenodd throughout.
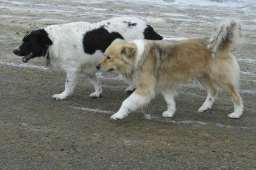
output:
<path id="1" fill-rule="evenodd" d="M 162 91 L 162 95 L 164 96 L 165 102 L 167 103 L 167 111 L 162 113 L 163 117 L 172 118 L 172 116 L 174 115 L 174 112 L 176 110 L 174 101 L 175 94 L 176 92 L 174 89 Z"/>

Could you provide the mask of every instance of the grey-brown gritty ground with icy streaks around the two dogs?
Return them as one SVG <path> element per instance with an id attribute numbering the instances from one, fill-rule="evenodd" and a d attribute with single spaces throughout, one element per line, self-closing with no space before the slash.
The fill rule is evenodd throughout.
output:
<path id="1" fill-rule="evenodd" d="M 254 1 L 5 1 L 0 0 L 0 169 L 256 169 L 256 11 Z M 191 81 L 177 88 L 174 118 L 157 95 L 147 109 L 112 121 L 126 94 L 118 75 L 101 75 L 104 94 L 81 76 L 74 95 L 65 73 L 45 60 L 23 64 L 12 50 L 28 31 L 73 21 L 137 16 L 167 37 L 209 36 L 228 16 L 242 21 L 241 66 L 244 115 L 219 91 L 211 110 L 198 114 L 205 89 Z"/>

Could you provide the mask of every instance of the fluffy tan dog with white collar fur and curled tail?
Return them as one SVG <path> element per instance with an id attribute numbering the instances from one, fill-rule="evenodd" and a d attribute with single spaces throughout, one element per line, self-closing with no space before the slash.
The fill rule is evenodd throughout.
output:
<path id="1" fill-rule="evenodd" d="M 215 82 L 234 102 L 234 112 L 228 117 L 239 118 L 243 112 L 242 99 L 236 90 L 240 68 L 230 49 L 240 43 L 241 36 L 240 23 L 230 19 L 222 22 L 211 38 L 179 42 L 116 39 L 97 68 L 117 71 L 137 89 L 111 118 L 123 119 L 129 112 L 142 108 L 154 98 L 155 92 L 161 92 L 167 102 L 168 109 L 162 116 L 172 117 L 174 87 L 191 78 L 197 78 L 207 89 L 207 99 L 198 112 L 206 111 L 214 103 Z"/>

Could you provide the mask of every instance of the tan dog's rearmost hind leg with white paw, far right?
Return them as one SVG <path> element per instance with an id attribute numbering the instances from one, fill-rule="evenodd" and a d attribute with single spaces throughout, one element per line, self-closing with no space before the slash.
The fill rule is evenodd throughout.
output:
<path id="1" fill-rule="evenodd" d="M 218 85 L 229 95 L 231 96 L 232 102 L 234 103 L 234 112 L 229 114 L 229 118 L 240 118 L 243 112 L 244 105 L 242 105 L 242 98 L 235 89 L 235 85 L 224 84 L 222 82 L 217 82 Z"/>

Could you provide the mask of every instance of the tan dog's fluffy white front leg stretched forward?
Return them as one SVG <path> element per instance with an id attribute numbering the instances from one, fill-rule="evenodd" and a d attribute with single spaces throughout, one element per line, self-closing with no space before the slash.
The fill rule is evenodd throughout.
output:
<path id="1" fill-rule="evenodd" d="M 131 94 L 124 102 L 122 102 L 122 106 L 119 111 L 111 116 L 111 119 L 124 119 L 125 116 L 129 114 L 131 111 L 137 111 L 139 108 L 146 106 L 152 97 L 153 93 L 147 95 L 140 95 L 140 89 L 137 88 L 133 94 Z"/>

